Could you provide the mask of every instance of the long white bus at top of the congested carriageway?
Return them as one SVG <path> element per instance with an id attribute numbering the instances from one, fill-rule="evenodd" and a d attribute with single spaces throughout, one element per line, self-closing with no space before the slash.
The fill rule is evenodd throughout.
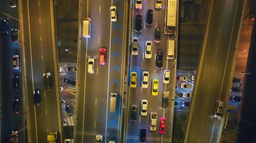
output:
<path id="1" fill-rule="evenodd" d="M 164 34 L 175 34 L 176 0 L 166 0 Z"/>

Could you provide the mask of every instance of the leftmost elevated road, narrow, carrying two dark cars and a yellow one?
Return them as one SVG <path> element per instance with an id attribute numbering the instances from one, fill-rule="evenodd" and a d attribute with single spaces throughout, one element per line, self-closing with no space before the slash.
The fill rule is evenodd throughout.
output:
<path id="1" fill-rule="evenodd" d="M 23 10 L 23 12 L 22 12 Z M 53 1 L 22 1 L 22 52 L 24 55 L 25 97 L 29 142 L 47 142 L 47 134 L 58 132 L 62 140 L 60 98 Z M 54 81 L 51 91 L 45 90 L 43 73 L 50 72 Z M 35 106 L 33 90 L 41 91 L 41 105 Z"/>

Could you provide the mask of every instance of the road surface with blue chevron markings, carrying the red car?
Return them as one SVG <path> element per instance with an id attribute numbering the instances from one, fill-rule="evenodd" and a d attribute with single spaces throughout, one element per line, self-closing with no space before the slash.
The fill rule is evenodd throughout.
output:
<path id="1" fill-rule="evenodd" d="M 101 134 L 104 142 L 113 138 L 118 142 L 121 124 L 122 76 L 124 70 L 123 1 L 81 1 L 79 6 L 79 38 L 78 41 L 78 75 L 76 97 L 76 123 L 74 127 L 75 142 L 94 142 L 95 136 Z M 117 21 L 111 22 L 110 7 L 117 7 Z M 82 20 L 91 18 L 91 37 L 83 38 Z M 99 65 L 99 48 L 106 48 L 106 64 Z M 95 59 L 95 73 L 87 72 L 88 59 Z M 110 93 L 116 92 L 117 110 L 112 113 Z"/>

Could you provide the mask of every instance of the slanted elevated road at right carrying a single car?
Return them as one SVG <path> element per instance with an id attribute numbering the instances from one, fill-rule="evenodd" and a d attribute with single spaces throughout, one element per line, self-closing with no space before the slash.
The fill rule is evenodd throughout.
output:
<path id="1" fill-rule="evenodd" d="M 229 97 L 243 3 L 211 3 L 184 142 L 211 143 L 220 139 L 224 118 L 214 118 L 213 113 L 216 101 L 227 103 Z"/>

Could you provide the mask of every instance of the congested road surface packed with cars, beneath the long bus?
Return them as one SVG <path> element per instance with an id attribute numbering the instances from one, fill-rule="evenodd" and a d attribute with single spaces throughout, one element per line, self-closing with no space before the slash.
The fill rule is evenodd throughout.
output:
<path id="1" fill-rule="evenodd" d="M 174 95 L 174 86 L 175 86 L 175 60 L 167 60 L 166 59 L 166 44 L 168 36 L 164 35 L 164 7 L 165 2 L 163 2 L 162 9 L 160 11 L 155 10 L 155 1 L 143 1 L 143 6 L 141 10 L 135 9 L 135 1 L 132 1 L 132 4 L 130 5 L 131 8 L 131 18 L 132 25 L 131 25 L 131 39 L 130 39 L 130 45 L 132 44 L 132 38 L 137 37 L 139 38 L 139 50 L 138 55 L 131 55 L 131 46 L 129 48 L 129 54 L 130 54 L 130 67 L 129 72 L 127 74 L 128 78 L 128 84 L 129 84 L 129 92 L 128 92 L 128 104 L 127 104 L 127 110 L 128 110 L 128 118 L 126 124 L 126 142 L 138 142 L 139 141 L 139 130 L 141 127 L 146 127 L 147 129 L 147 139 L 146 142 L 167 142 L 169 141 L 169 138 L 172 136 L 172 103 L 170 99 L 172 98 L 172 95 Z M 145 24 L 146 20 L 146 11 L 147 9 L 153 9 L 153 25 L 148 28 Z M 137 33 L 135 32 L 135 16 L 137 14 L 142 15 L 142 32 Z M 155 43 L 154 42 L 154 28 L 155 26 L 161 27 L 161 42 Z M 174 37 L 170 37 L 174 38 Z M 145 59 L 144 58 L 144 48 L 145 48 L 145 42 L 146 41 L 152 41 L 153 46 L 153 53 L 151 59 Z M 164 52 L 164 59 L 163 59 L 163 68 L 162 69 L 156 69 L 156 52 L 160 49 Z M 170 83 L 164 84 L 163 83 L 163 70 L 169 69 L 171 71 L 170 76 Z M 150 73 L 149 83 L 147 89 L 141 89 L 141 80 L 142 80 L 142 70 L 147 70 Z M 137 72 L 137 88 L 130 88 L 130 73 L 132 71 Z M 159 80 L 159 93 L 156 97 L 151 95 L 151 82 L 152 79 L 158 79 Z M 169 95 L 169 106 L 167 108 L 161 107 L 161 101 L 162 101 L 162 90 L 168 89 L 170 90 Z M 148 111 L 146 117 L 140 116 L 140 102 L 142 99 L 146 99 L 148 101 Z M 130 110 L 131 105 L 137 105 L 137 122 L 131 122 L 130 121 Z M 172 110 L 171 110 L 172 109 Z M 157 130 L 155 132 L 151 132 L 149 130 L 149 123 L 150 123 L 150 113 L 151 112 L 157 112 Z M 165 135 L 159 135 L 158 129 L 159 129 L 159 121 L 160 118 L 165 117 L 167 119 L 167 125 L 166 126 L 166 133 Z"/>

